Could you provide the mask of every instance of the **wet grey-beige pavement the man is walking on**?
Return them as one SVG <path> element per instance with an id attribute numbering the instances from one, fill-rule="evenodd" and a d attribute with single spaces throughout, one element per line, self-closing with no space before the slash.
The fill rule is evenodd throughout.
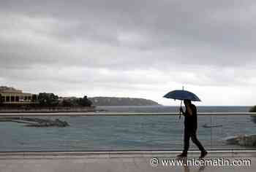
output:
<path id="1" fill-rule="evenodd" d="M 183 165 L 170 165 L 168 161 L 163 161 L 176 160 L 178 153 L 173 151 L 0 152 L 0 172 L 256 171 L 255 151 L 211 151 L 205 158 L 208 164 L 206 161 L 200 161 L 206 165 L 196 165 L 200 163 L 199 152 L 189 152 L 188 161 L 184 160 Z M 236 164 L 239 162 L 243 164 L 241 160 L 244 160 L 244 165 L 221 165 L 224 164 L 223 160 Z M 245 160 L 249 160 L 251 164 L 249 165 Z M 167 165 L 163 165 L 163 162 L 167 162 Z"/>

